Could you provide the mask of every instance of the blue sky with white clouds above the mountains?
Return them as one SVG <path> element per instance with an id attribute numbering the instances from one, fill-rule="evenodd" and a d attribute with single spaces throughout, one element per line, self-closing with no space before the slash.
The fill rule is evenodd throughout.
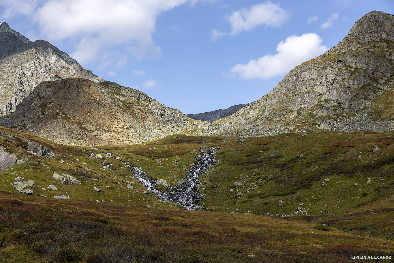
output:
<path id="1" fill-rule="evenodd" d="M 393 0 L 0 0 L 0 21 L 184 114 L 251 103 Z"/>

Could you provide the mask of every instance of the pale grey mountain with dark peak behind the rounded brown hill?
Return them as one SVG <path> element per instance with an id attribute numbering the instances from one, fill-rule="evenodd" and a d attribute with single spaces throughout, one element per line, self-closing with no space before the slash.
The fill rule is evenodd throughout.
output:
<path id="1" fill-rule="evenodd" d="M 103 81 L 50 43 L 32 42 L 0 22 L 0 116 L 13 112 L 42 81 L 69 77 Z"/>

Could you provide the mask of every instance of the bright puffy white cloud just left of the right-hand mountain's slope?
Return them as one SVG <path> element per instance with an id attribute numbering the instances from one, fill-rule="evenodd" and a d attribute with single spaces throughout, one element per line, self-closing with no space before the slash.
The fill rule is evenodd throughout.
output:
<path id="1" fill-rule="evenodd" d="M 322 39 L 315 33 L 291 35 L 278 44 L 277 54 L 267 54 L 257 60 L 250 60 L 247 64 L 235 65 L 225 74 L 239 75 L 243 79 L 279 76 L 327 51 L 327 47 L 320 45 L 321 43 Z"/>

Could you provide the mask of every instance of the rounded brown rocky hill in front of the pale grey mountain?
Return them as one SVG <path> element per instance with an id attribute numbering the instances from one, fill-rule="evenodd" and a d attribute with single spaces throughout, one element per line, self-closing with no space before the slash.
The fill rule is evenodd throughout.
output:
<path id="1" fill-rule="evenodd" d="M 72 145 L 138 144 L 204 126 L 141 91 L 82 78 L 42 82 L 0 123 Z"/>

